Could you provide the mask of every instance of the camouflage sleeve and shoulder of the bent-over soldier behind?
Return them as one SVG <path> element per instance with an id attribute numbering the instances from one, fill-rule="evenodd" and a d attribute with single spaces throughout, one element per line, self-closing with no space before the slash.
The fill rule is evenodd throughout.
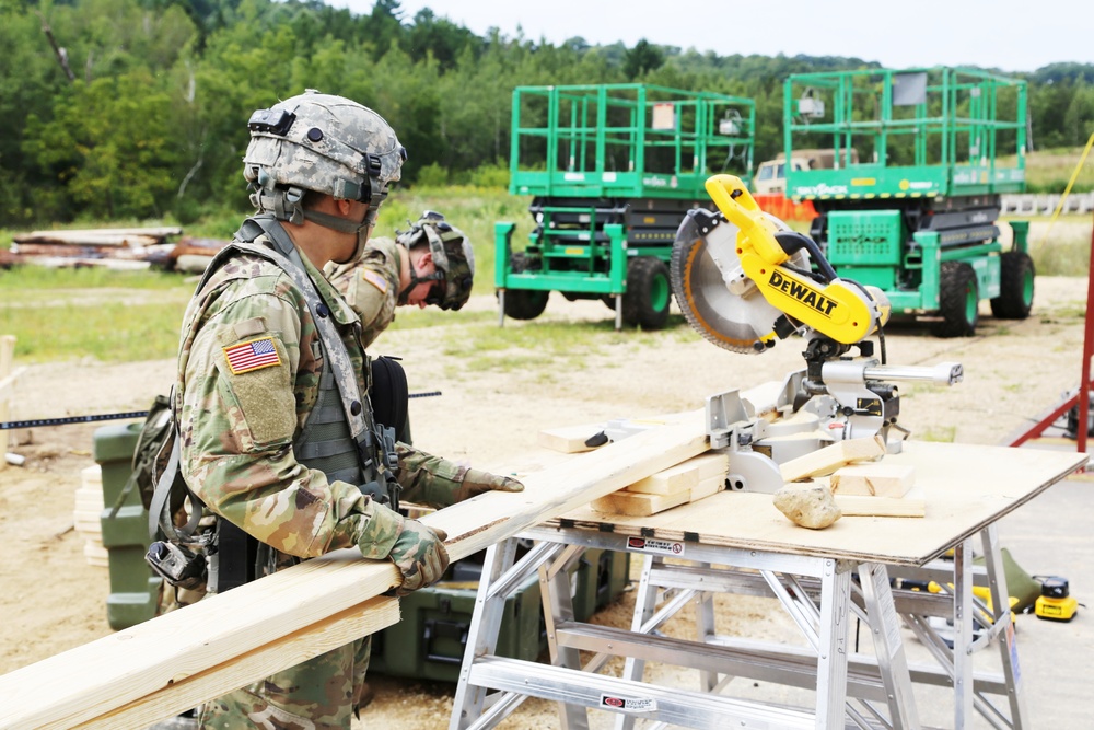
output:
<path id="1" fill-rule="evenodd" d="M 399 253 L 391 239 L 370 239 L 352 264 L 328 264 L 327 278 L 361 318 L 368 348 L 395 320 L 399 294 Z"/>

